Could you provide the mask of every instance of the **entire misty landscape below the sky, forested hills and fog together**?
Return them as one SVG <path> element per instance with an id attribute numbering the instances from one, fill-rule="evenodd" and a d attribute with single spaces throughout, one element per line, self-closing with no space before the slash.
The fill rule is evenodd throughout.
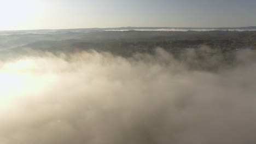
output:
<path id="1" fill-rule="evenodd" d="M 0 143 L 255 143 L 255 29 L 0 31 Z"/>

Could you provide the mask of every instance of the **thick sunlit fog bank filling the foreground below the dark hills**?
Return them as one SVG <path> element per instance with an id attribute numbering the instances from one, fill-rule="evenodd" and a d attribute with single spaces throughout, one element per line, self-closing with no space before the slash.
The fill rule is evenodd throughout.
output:
<path id="1" fill-rule="evenodd" d="M 2 61 L 0 143 L 255 143 L 252 53 L 218 73 L 161 49 Z"/>

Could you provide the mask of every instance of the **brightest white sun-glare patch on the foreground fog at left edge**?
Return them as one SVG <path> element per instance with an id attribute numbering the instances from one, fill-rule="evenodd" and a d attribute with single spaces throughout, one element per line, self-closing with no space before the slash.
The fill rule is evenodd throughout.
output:
<path id="1" fill-rule="evenodd" d="M 34 59 L 0 63 L 0 108 L 46 92 L 57 76 L 41 70 Z"/>

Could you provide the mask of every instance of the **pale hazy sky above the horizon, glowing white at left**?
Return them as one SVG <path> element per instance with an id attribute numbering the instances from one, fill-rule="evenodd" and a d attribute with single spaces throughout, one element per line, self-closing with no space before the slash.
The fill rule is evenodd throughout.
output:
<path id="1" fill-rule="evenodd" d="M 0 31 L 256 26 L 255 0 L 0 0 Z"/>

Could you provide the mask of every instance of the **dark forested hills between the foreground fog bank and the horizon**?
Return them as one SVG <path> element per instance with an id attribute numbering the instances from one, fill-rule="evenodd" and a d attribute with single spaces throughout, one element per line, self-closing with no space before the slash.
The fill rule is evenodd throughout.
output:
<path id="1" fill-rule="evenodd" d="M 136 52 L 153 52 L 155 47 L 162 47 L 172 53 L 201 46 L 208 46 L 210 49 L 221 52 L 256 49 L 256 31 L 105 31 L 49 36 L 37 34 L 33 37 L 16 35 L 15 39 L 15 41 L 22 40 L 22 46 L 11 49 L 15 52 L 24 48 L 50 52 L 78 52 L 94 49 L 96 51 L 109 51 L 121 56 L 132 56 Z M 31 41 L 35 42 L 31 43 Z"/>

